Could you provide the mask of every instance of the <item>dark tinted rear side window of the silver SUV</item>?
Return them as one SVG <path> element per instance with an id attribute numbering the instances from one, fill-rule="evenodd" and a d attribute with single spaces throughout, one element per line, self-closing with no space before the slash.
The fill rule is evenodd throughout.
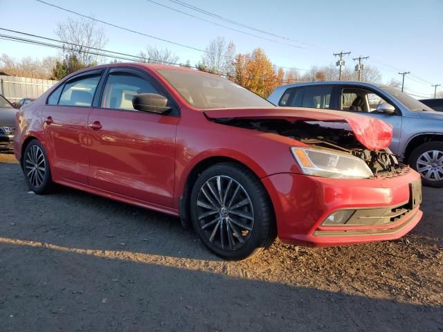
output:
<path id="1" fill-rule="evenodd" d="M 305 86 L 293 89 L 290 106 L 329 109 L 331 93 L 332 86 Z"/>

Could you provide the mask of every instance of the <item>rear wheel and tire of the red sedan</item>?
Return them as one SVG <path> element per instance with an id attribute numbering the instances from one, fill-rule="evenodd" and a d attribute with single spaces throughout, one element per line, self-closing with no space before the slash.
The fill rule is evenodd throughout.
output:
<path id="1" fill-rule="evenodd" d="M 26 145 L 24 154 L 21 156 L 21 168 L 30 190 L 35 192 L 35 194 L 51 192 L 53 189 L 51 167 L 49 166 L 46 151 L 38 140 L 31 140 Z"/>

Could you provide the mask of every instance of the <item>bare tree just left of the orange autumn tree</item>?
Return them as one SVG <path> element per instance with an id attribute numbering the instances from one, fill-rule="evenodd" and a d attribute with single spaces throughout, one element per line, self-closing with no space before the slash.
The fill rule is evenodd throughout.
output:
<path id="1" fill-rule="evenodd" d="M 203 55 L 202 65 L 208 68 L 208 71 L 229 76 L 234 70 L 235 45 L 232 42 L 226 42 L 224 37 L 218 36 L 213 39 L 206 53 Z"/>

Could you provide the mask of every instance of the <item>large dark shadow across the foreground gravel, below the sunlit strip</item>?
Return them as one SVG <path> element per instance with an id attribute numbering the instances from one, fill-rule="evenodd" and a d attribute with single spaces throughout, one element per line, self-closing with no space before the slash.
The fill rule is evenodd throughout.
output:
<path id="1" fill-rule="evenodd" d="M 438 331 L 441 306 L 1 243 L 3 331 Z M 69 248 L 67 248 L 69 249 Z M 105 254 L 105 252 L 103 252 Z"/>

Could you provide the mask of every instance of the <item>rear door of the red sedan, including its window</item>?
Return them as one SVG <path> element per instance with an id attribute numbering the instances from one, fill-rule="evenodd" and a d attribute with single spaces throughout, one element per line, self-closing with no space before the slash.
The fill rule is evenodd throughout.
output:
<path id="1" fill-rule="evenodd" d="M 43 109 L 46 151 L 55 176 L 87 184 L 89 172 L 87 121 L 102 70 L 75 75 L 60 85 Z"/>

